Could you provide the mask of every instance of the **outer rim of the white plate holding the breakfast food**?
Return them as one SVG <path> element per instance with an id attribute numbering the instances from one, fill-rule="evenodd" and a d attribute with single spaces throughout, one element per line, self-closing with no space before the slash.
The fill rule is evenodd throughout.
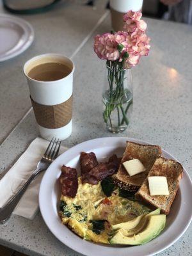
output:
<path id="1" fill-rule="evenodd" d="M 70 151 L 73 151 L 73 150 L 76 150 L 78 147 L 81 147 L 82 145 L 86 145 L 86 143 L 90 143 L 90 142 L 94 142 L 94 141 L 97 141 L 97 140 L 109 140 L 109 139 L 111 139 L 111 140 L 124 140 L 124 141 L 132 141 L 132 142 L 136 142 L 136 143 L 142 143 L 142 144 L 148 144 L 148 145 L 154 145 L 154 144 L 152 144 L 152 143 L 148 143 L 147 141 L 143 141 L 143 140 L 138 140 L 138 139 L 136 139 L 136 138 L 129 138 L 129 137 L 103 137 L 103 138 L 95 138 L 95 139 L 92 139 L 92 140 L 86 140 L 86 141 L 83 141 L 83 142 L 81 142 L 81 143 L 78 143 L 77 145 L 75 145 L 74 147 L 71 147 L 71 148 L 68 148 L 68 150 L 66 150 L 63 154 L 61 154 L 54 162 L 55 162 L 55 164 L 56 164 L 56 162 L 59 162 L 60 161 L 60 159 L 63 157 L 63 155 L 64 154 L 69 154 L 70 153 Z M 170 154 L 169 152 L 167 152 L 166 150 L 163 150 L 163 148 L 162 148 L 162 152 L 164 153 L 164 154 L 168 154 L 169 156 L 170 156 L 170 158 L 172 158 L 172 159 L 175 159 L 175 161 L 178 161 L 174 156 L 172 156 L 172 154 Z M 179 162 L 179 161 L 178 161 Z M 52 166 L 54 166 L 53 165 L 54 163 L 52 163 L 51 165 Z M 51 172 L 51 165 L 49 166 L 49 168 L 47 169 L 47 171 L 48 172 Z M 183 168 L 184 168 L 184 166 L 183 166 Z M 57 234 L 55 234 L 55 232 L 54 232 L 54 230 L 52 229 L 52 227 L 50 227 L 50 225 L 49 225 L 49 223 L 47 223 L 47 219 L 46 219 L 46 216 L 44 216 L 44 209 L 43 209 L 43 205 L 42 205 L 42 198 L 44 198 L 44 196 L 43 196 L 43 193 L 44 193 L 44 191 L 43 191 L 43 186 L 44 186 L 44 182 L 45 182 L 45 179 L 46 179 L 46 173 L 47 173 L 47 171 L 45 172 L 45 174 L 44 174 L 44 177 L 43 177 L 43 179 L 42 179 L 42 182 L 41 182 L 41 184 L 40 184 L 40 191 L 39 191 L 39 205 L 40 205 L 40 212 L 41 212 L 41 214 L 42 214 L 42 218 L 44 219 L 44 221 L 45 221 L 45 224 L 47 225 L 47 227 L 49 228 L 49 230 L 52 232 L 52 234 L 54 234 L 54 236 L 58 239 L 58 240 L 60 240 L 61 241 L 61 239 L 57 236 Z M 185 179 L 187 179 L 188 180 L 188 182 L 189 182 L 189 184 L 190 184 L 190 186 L 191 186 L 191 188 L 192 188 L 192 182 L 191 182 L 191 178 L 190 178 L 190 176 L 189 176 L 189 174 L 188 174 L 188 172 L 186 171 L 186 169 L 184 168 L 184 175 L 186 175 L 186 178 Z M 178 212 L 180 212 L 180 209 L 179 209 L 179 211 Z M 189 225 L 190 225 L 190 223 L 191 223 L 191 219 L 192 219 L 192 216 L 191 216 L 191 218 L 189 218 L 189 220 L 187 220 L 187 223 L 186 223 L 186 225 L 184 226 L 184 227 L 182 227 L 182 231 L 181 232 L 179 232 L 179 234 L 177 234 L 176 236 L 175 236 L 175 238 L 174 239 L 172 239 L 172 241 L 171 242 L 168 242 L 165 246 L 161 246 L 161 248 L 159 248 L 158 250 L 151 250 L 150 248 L 149 248 L 149 251 L 150 252 L 148 252 L 147 254 L 145 254 L 145 255 L 143 255 L 143 256 L 151 256 L 151 255 L 155 255 L 156 253 L 159 253 L 159 252 L 162 252 L 163 250 L 166 250 L 166 248 L 168 248 L 168 247 L 170 247 L 173 243 L 175 243 L 183 234 L 184 234 L 184 232 L 186 232 L 186 230 L 188 229 L 188 227 L 189 227 Z M 62 225 L 62 224 L 61 224 Z M 172 225 L 171 225 L 172 226 Z M 70 231 L 70 232 L 72 232 L 72 231 Z M 166 231 L 167 232 L 167 231 Z M 74 234 L 73 232 L 72 232 L 72 234 Z M 76 236 L 76 235 L 75 235 Z M 81 237 L 77 237 L 77 238 L 79 238 L 79 239 L 81 239 L 82 241 L 84 241 Z M 155 240 L 155 239 L 154 239 Z M 65 241 L 66 242 L 66 241 Z M 87 241 L 86 241 L 87 242 Z M 61 241 L 61 243 L 63 243 L 63 241 Z M 90 243 L 90 242 L 89 242 Z M 149 242 L 150 243 L 150 242 Z M 79 252 L 79 253 L 83 253 L 84 255 L 88 255 L 86 252 L 84 252 L 84 249 L 83 248 L 81 248 L 80 246 L 79 247 L 76 247 L 76 246 L 74 246 L 74 245 L 72 245 L 71 243 L 68 243 L 68 241 L 67 241 L 67 243 L 63 243 L 63 244 L 65 244 L 66 246 L 68 246 L 69 248 L 71 248 L 72 250 L 75 250 L 76 252 Z M 95 243 L 92 243 L 92 245 L 93 246 L 99 246 L 100 244 L 95 244 Z M 145 246 L 146 244 L 144 244 L 144 246 Z M 83 246 L 82 246 L 83 247 Z M 138 248 L 141 248 L 142 247 L 142 245 L 140 245 L 140 246 L 131 246 L 131 248 L 136 248 L 136 247 L 138 247 Z M 115 247 L 113 247 L 113 246 L 108 246 L 108 247 L 106 247 L 106 246 L 103 246 L 103 248 L 113 248 L 114 250 L 116 249 Z M 94 249 L 94 248 L 93 248 Z M 120 248 L 118 248 L 118 249 L 120 249 Z M 125 249 L 127 249 L 127 247 L 125 247 Z M 107 249 L 108 250 L 108 249 Z M 152 251 L 152 252 L 151 252 Z M 107 252 L 106 252 L 107 253 Z M 135 252 L 136 253 L 136 252 Z M 124 253 L 120 253 L 120 250 L 119 250 L 119 255 L 124 255 Z M 133 256 L 134 255 L 136 255 L 136 254 L 133 254 Z"/>

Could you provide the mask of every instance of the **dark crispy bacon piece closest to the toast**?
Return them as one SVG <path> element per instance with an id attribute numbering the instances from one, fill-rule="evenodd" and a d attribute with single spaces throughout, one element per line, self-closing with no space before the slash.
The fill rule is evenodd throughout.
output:
<path id="1" fill-rule="evenodd" d="M 109 157 L 108 162 L 100 163 L 93 167 L 90 172 L 86 173 L 86 175 L 84 175 L 83 182 L 87 182 L 93 185 L 98 184 L 100 180 L 103 180 L 106 177 L 116 173 L 119 166 L 120 159 L 116 155 L 113 155 Z"/>

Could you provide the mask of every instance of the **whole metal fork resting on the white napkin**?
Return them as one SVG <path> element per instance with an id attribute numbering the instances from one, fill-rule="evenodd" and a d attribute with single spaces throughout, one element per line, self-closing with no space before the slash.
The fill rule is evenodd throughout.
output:
<path id="1" fill-rule="evenodd" d="M 56 141 L 56 138 L 52 138 L 49 143 L 49 146 L 45 150 L 44 156 L 38 162 L 36 166 L 36 170 L 32 173 L 31 177 L 26 181 L 26 183 L 19 189 L 19 191 L 8 201 L 4 207 L 0 208 L 0 223 L 4 223 L 4 221 L 10 218 L 13 210 L 15 209 L 16 205 L 18 204 L 21 196 L 24 194 L 26 189 L 28 188 L 29 184 L 35 177 L 39 174 L 47 170 L 49 165 L 56 159 L 60 151 L 61 141 Z"/>

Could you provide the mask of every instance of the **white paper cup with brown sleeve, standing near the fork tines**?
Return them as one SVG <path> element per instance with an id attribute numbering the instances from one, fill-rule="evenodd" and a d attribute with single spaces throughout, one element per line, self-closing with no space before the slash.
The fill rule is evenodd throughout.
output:
<path id="1" fill-rule="evenodd" d="M 60 63 L 70 73 L 54 81 L 38 81 L 29 72 L 44 63 Z M 74 63 L 61 54 L 42 54 L 27 61 L 24 74 L 29 85 L 31 103 L 42 138 L 65 140 L 72 133 L 72 92 Z"/>

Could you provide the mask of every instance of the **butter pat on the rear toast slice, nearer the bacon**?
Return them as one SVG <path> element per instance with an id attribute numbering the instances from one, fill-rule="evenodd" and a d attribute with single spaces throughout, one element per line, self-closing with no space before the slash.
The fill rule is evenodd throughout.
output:
<path id="1" fill-rule="evenodd" d="M 132 159 L 126 161 L 123 163 L 123 165 L 130 176 L 145 171 L 145 166 L 141 163 L 139 159 Z"/>

